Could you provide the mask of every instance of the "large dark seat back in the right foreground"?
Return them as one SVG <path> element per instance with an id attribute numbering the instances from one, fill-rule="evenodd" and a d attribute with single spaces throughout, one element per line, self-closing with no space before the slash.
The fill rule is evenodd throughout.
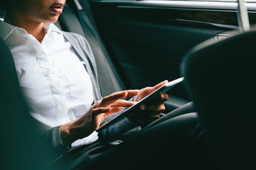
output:
<path id="1" fill-rule="evenodd" d="M 181 74 L 223 170 L 255 167 L 256 32 L 199 44 Z"/>

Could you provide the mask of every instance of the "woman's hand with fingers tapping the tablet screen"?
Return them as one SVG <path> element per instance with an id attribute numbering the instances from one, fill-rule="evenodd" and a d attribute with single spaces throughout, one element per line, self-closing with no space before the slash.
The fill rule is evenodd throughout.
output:
<path id="1" fill-rule="evenodd" d="M 61 125 L 62 143 L 68 146 L 77 139 L 89 136 L 108 115 L 119 112 L 123 107 L 130 107 L 135 104 L 136 102 L 122 99 L 138 95 L 138 93 L 139 90 L 119 91 L 95 102 L 79 118 Z"/>

